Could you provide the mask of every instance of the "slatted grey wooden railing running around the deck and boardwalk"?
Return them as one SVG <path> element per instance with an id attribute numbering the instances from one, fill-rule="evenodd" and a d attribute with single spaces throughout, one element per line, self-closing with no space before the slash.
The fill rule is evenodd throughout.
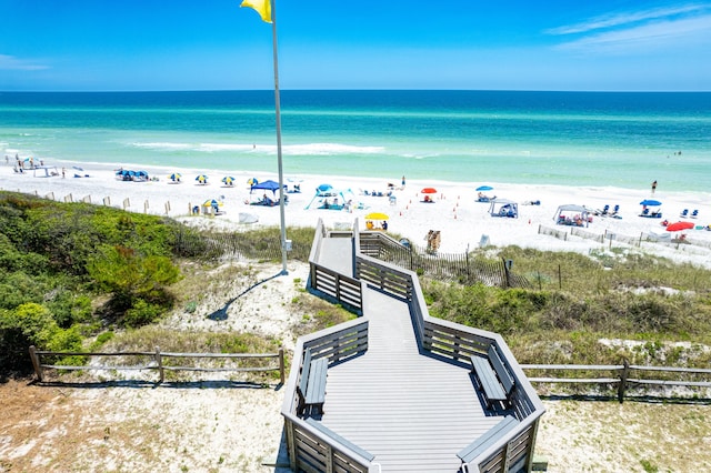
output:
<path id="1" fill-rule="evenodd" d="M 423 350 L 437 356 L 469 366 L 469 356 L 474 353 L 485 354 L 491 345 L 495 345 L 502 356 L 503 364 L 517 383 L 517 390 L 512 395 L 512 411 L 519 419 L 520 425 L 508 435 L 500 439 L 490 449 L 483 452 L 474 462 L 485 471 L 508 472 L 521 469 L 530 470 L 533 460 L 533 445 L 540 415 L 544 407 L 535 394 L 535 391 L 525 379 L 523 371 L 518 366 L 513 354 L 503 339 L 492 332 L 467 328 L 464 325 L 430 318 L 424 296 L 420 288 L 417 274 L 411 271 L 381 261 L 381 242 L 378 233 L 360 233 L 358 221 L 353 224 L 351 233 L 353 239 L 354 278 L 337 275 L 333 271 L 320 266 L 317 251 L 320 250 L 323 238 L 329 233 L 321 221 L 317 225 L 314 248 L 310 256 L 311 274 L 309 286 L 321 293 L 338 300 L 348 302 L 343 296 L 348 291 L 356 290 L 357 284 L 369 284 L 372 288 L 408 303 L 412 314 L 415 338 Z M 342 236 L 341 234 L 333 236 Z M 362 238 L 361 238 L 362 236 Z M 339 291 L 348 284 L 352 289 Z M 358 286 L 358 301 L 362 301 L 362 293 Z M 351 296 L 349 294 L 349 296 Z M 362 308 L 361 308 L 362 309 Z M 364 324 L 364 325 L 363 325 Z M 296 348 L 294 362 L 292 363 L 289 382 L 287 384 L 287 399 L 282 407 L 284 415 L 289 457 L 294 471 L 368 471 L 370 463 L 338 439 L 329 437 L 320 431 L 309 426 L 302 419 L 296 415 L 298 403 L 296 386 L 302 373 L 302 356 L 306 348 L 311 349 L 312 356 L 329 356 L 329 364 L 341 359 L 334 359 L 338 353 L 357 355 L 367 349 L 368 325 L 365 322 L 352 321 L 337 328 L 320 331 L 309 336 L 301 338 Z M 351 344 L 342 345 L 340 340 L 346 336 L 353 339 Z M 342 346 L 350 346 L 350 351 L 343 352 Z M 475 393 L 472 391 L 472 395 Z"/>

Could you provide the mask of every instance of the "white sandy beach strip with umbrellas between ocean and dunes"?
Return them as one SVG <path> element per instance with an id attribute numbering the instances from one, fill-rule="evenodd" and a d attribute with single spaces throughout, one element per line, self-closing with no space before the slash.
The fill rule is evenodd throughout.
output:
<path id="1" fill-rule="evenodd" d="M 11 163 L 10 163 L 11 164 Z M 132 212 L 148 212 L 167 214 L 188 224 L 223 230 L 242 231 L 258 225 L 279 225 L 278 207 L 250 205 L 246 202 L 257 201 L 264 191 L 250 194 L 248 181 L 256 178 L 260 182 L 278 181 L 277 173 L 253 174 L 249 172 L 229 172 L 214 170 L 151 168 L 122 163 L 89 164 L 78 162 L 47 162 L 51 171 L 58 175 L 44 177 L 44 170 L 26 170 L 23 173 L 13 172 L 11 165 L 0 168 L 0 188 L 8 191 L 20 191 L 47 197 L 57 201 L 88 201 L 96 204 L 109 204 L 124 208 Z M 51 168 L 54 167 L 54 168 Z M 62 178 L 62 168 L 64 178 Z M 79 169 L 78 169 L 79 168 Z M 149 173 L 147 182 L 121 181 L 116 177 L 117 169 L 144 170 Z M 181 182 L 169 179 L 173 172 L 182 174 Z M 206 184 L 200 184 L 196 178 L 200 174 L 208 177 Z M 221 182 L 222 178 L 234 178 L 232 187 Z M 402 177 L 383 178 L 349 178 L 323 175 L 284 175 L 284 183 L 290 190 L 298 184 L 300 193 L 289 193 L 286 207 L 286 223 L 288 227 L 313 227 L 318 219 L 322 219 L 329 227 L 351 224 L 359 219 L 361 228 L 365 228 L 364 217 L 371 212 L 382 212 L 389 215 L 388 231 L 409 239 L 413 244 L 425 246 L 425 235 L 430 230 L 440 231 L 441 253 L 462 253 L 477 248 L 482 236 L 489 244 L 504 246 L 515 244 L 540 250 L 574 251 L 588 253 L 593 250 L 612 248 L 632 248 L 619 240 L 623 238 L 639 239 L 642 234 L 657 234 L 661 243 L 642 243 L 634 246 L 635 251 L 671 258 L 675 261 L 691 262 L 711 266 L 711 231 L 701 227 L 711 223 L 711 192 L 665 192 L 663 181 L 652 193 L 649 190 L 630 190 L 621 188 L 594 188 L 560 185 L 527 185 L 509 184 L 504 182 L 455 183 L 445 181 L 409 180 L 402 185 Z M 314 200 L 316 189 L 321 184 L 330 184 L 339 203 L 351 201 L 349 211 L 318 209 L 319 199 Z M 388 184 L 393 184 L 391 190 Z M 487 191 L 489 197 L 507 199 L 518 203 L 519 218 L 509 219 L 490 215 L 490 204 L 478 202 L 475 188 L 488 184 L 493 189 Z M 650 183 L 651 184 L 651 183 Z M 423 203 L 424 194 L 421 190 L 433 188 L 435 193 L 429 194 L 433 202 Z M 350 191 L 350 192 L 348 192 Z M 341 194 L 342 192 L 342 194 Z M 365 195 L 368 192 L 370 195 Z M 382 193 L 373 197 L 372 193 Z M 266 192 L 273 198 L 271 191 Z M 222 203 L 220 215 L 204 215 L 203 203 L 208 200 Z M 641 218 L 640 202 L 654 199 L 662 202 L 659 208 L 661 219 Z M 538 204 L 531 204 L 538 202 Z M 309 207 L 309 204 L 311 205 Z M 591 210 L 602 210 L 609 205 L 610 211 L 620 205 L 618 217 L 591 215 L 591 221 L 583 227 L 555 224 L 558 208 L 565 204 L 584 205 Z M 200 215 L 191 215 L 191 209 L 200 207 Z M 698 210 L 694 219 L 681 218 L 687 209 L 689 215 Z M 650 210 L 654 210 L 651 208 Z M 257 219 L 256 223 L 240 223 L 240 213 L 248 213 Z M 577 212 L 567 212 L 574 218 Z M 695 229 L 682 232 L 667 232 L 661 224 L 663 221 L 688 221 Z M 379 224 L 381 222 L 375 222 Z M 567 239 L 554 238 L 539 232 L 541 228 L 554 229 L 570 233 L 572 228 L 590 233 L 591 236 L 613 234 L 604 242 L 591 238 L 568 234 Z M 619 238 L 617 238 L 619 235 Z M 683 236 L 682 236 L 683 235 Z M 672 239 L 685 239 L 688 244 L 673 244 Z M 485 239 L 484 239 L 485 240 Z"/>

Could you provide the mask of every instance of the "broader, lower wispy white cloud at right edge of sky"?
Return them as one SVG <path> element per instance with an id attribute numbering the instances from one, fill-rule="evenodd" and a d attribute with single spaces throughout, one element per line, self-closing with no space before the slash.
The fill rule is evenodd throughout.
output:
<path id="1" fill-rule="evenodd" d="M 699 47 L 711 43 L 711 14 L 657 21 L 628 29 L 589 34 L 559 44 L 558 49 L 580 52 L 659 52 L 661 49 Z"/>

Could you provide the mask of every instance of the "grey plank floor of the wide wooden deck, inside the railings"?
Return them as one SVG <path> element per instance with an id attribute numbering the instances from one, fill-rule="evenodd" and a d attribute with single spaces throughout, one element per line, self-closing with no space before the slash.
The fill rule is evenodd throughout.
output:
<path id="1" fill-rule="evenodd" d="M 329 368 L 322 422 L 385 472 L 457 472 L 457 452 L 495 425 L 469 366 L 420 354 L 405 302 L 368 289 L 368 352 Z"/>

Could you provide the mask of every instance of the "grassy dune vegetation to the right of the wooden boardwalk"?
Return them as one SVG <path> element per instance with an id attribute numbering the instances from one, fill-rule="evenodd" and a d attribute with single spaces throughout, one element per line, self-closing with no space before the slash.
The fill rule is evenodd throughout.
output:
<path id="1" fill-rule="evenodd" d="M 425 276 L 430 314 L 501 333 L 521 363 L 709 363 L 710 351 L 699 349 L 711 345 L 707 269 L 629 252 L 600 259 L 518 246 L 475 258 L 513 260 L 533 289 Z"/>

